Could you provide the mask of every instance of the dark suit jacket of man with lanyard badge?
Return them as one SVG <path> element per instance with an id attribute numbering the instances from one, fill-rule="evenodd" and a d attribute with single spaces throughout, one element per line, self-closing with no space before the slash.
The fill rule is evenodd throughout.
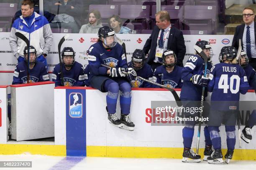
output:
<path id="1" fill-rule="evenodd" d="M 157 46 L 157 37 L 159 34 L 159 28 L 157 26 L 154 27 L 150 37 L 146 41 L 143 52 L 148 54 L 147 63 L 150 65 L 154 62 L 154 58 L 156 55 L 156 46 Z M 180 30 L 173 27 L 169 32 L 168 43 L 167 43 L 167 50 L 173 50 L 177 56 L 177 65 L 183 67 L 183 59 L 186 54 L 186 46 L 184 42 L 183 34 Z"/>

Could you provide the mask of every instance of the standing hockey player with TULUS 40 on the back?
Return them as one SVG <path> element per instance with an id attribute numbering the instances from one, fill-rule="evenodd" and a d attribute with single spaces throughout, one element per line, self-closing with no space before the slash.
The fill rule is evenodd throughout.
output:
<path id="1" fill-rule="evenodd" d="M 223 47 L 220 51 L 220 63 L 212 67 L 209 75 L 208 91 L 212 92 L 211 110 L 208 130 L 214 151 L 208 157 L 208 163 L 223 163 L 219 126 L 225 125 L 228 151 L 225 154 L 226 163 L 232 159 L 236 144 L 236 118 L 238 115 L 239 95 L 248 90 L 245 71 L 239 65 L 232 64 L 236 57 L 235 47 Z"/>

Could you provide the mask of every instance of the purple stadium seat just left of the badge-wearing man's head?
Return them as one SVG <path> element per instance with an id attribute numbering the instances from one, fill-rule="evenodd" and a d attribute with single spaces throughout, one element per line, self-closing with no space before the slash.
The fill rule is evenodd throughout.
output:
<path id="1" fill-rule="evenodd" d="M 149 25 L 149 5 L 121 5 L 120 18 L 123 19 L 123 26 L 131 30 L 146 30 Z"/>

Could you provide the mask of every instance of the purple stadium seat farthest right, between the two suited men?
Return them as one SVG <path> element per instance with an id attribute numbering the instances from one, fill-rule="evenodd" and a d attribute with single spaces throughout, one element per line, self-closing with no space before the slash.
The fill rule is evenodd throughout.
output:
<path id="1" fill-rule="evenodd" d="M 182 24 L 184 30 L 207 30 L 208 34 L 216 34 L 216 7 L 187 5 Z"/>

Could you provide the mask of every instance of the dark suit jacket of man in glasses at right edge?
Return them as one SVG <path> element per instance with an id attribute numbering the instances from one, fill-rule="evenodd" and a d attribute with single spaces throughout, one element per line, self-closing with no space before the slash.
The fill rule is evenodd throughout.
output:
<path id="1" fill-rule="evenodd" d="M 242 49 L 243 49 L 244 26 L 245 26 L 245 24 L 243 23 L 236 27 L 236 32 L 235 32 L 235 35 L 234 35 L 233 41 L 232 41 L 232 46 L 235 47 L 236 49 L 238 49 L 238 47 L 239 47 L 239 39 L 241 39 L 241 45 L 242 45 Z M 256 28 L 256 23 L 254 22 L 254 37 L 256 38 L 256 29 L 255 28 Z"/>

